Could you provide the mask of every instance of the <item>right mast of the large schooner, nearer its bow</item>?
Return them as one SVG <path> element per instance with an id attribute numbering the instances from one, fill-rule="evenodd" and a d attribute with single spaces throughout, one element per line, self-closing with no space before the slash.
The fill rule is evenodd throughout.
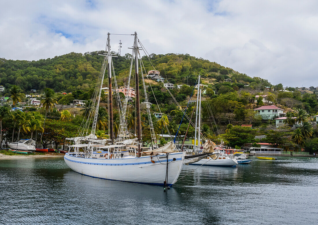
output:
<path id="1" fill-rule="evenodd" d="M 135 32 L 134 41 L 134 54 L 135 54 L 135 83 L 136 83 L 136 119 L 137 119 L 137 142 L 141 143 L 141 118 L 140 118 L 140 100 L 139 100 L 139 74 L 138 74 L 138 38 Z M 141 157 L 141 145 L 138 144 L 138 157 Z"/>

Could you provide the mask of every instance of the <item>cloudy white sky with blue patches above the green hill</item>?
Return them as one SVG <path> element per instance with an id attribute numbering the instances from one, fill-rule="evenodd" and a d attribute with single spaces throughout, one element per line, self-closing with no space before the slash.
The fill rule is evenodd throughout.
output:
<path id="1" fill-rule="evenodd" d="M 318 86 L 318 1 L 1 0 L 0 58 L 105 49 L 138 33 L 149 53 L 188 53 L 284 86 Z M 130 52 L 131 36 L 111 36 Z"/>

